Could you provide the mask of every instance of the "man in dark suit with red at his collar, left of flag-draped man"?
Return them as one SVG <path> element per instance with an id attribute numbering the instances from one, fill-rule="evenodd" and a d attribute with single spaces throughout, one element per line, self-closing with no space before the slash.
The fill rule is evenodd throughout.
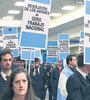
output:
<path id="1" fill-rule="evenodd" d="M 62 59 L 58 59 L 56 67 L 51 72 L 52 100 L 57 100 L 58 80 L 62 69 Z"/>

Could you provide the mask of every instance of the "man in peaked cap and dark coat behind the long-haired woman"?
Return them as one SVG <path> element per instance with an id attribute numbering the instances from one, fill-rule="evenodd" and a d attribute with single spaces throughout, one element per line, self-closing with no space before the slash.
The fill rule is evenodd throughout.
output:
<path id="1" fill-rule="evenodd" d="M 44 70 L 44 67 L 40 66 L 39 61 L 39 58 L 34 59 L 34 67 L 31 68 L 30 77 L 35 95 L 41 100 L 44 100 L 47 88 L 46 72 Z"/>

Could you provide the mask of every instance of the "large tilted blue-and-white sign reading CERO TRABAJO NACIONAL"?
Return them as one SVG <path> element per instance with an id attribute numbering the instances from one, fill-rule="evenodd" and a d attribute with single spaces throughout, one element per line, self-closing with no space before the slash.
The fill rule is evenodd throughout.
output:
<path id="1" fill-rule="evenodd" d="M 46 47 L 49 15 L 50 0 L 26 0 L 21 27 L 21 47 Z"/>

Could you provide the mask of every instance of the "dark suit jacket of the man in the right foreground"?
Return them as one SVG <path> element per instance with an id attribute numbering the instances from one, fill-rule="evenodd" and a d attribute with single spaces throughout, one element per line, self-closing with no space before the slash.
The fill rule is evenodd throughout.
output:
<path id="1" fill-rule="evenodd" d="M 66 89 L 68 92 L 67 100 L 82 100 L 87 85 L 88 82 L 86 79 L 76 71 L 68 78 L 66 83 Z"/>

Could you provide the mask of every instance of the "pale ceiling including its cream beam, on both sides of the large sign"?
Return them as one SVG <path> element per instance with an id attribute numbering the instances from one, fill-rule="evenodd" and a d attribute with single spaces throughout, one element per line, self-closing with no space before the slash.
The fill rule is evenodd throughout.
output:
<path id="1" fill-rule="evenodd" d="M 17 1 L 24 0 L 0 0 L 0 26 L 21 26 L 21 20 L 23 15 L 23 7 L 17 7 L 14 4 Z M 64 11 L 61 8 L 65 5 L 73 5 L 77 8 L 73 11 Z M 50 17 L 50 28 L 49 28 L 49 38 L 55 39 L 55 35 L 59 32 L 69 32 L 66 31 L 71 27 L 76 27 L 77 25 L 83 29 L 83 14 L 79 14 L 84 8 L 84 0 L 52 0 L 51 3 L 51 13 L 62 13 L 59 17 Z M 20 14 L 12 15 L 14 16 L 13 20 L 2 20 L 4 16 L 8 15 L 9 10 L 20 10 Z M 78 13 L 77 13 L 78 12 Z M 69 19 L 68 15 L 72 16 L 72 18 L 68 21 L 65 19 Z M 78 15 L 79 17 L 76 17 Z M 64 18 L 64 19 L 63 19 Z M 63 20 L 63 21 L 61 21 Z M 13 23 L 13 24 L 12 24 Z M 78 30 L 79 31 L 79 30 Z M 2 31 L 0 31 L 1 33 Z M 73 31 L 72 31 L 73 32 Z M 0 34 L 1 35 L 1 34 Z"/>

